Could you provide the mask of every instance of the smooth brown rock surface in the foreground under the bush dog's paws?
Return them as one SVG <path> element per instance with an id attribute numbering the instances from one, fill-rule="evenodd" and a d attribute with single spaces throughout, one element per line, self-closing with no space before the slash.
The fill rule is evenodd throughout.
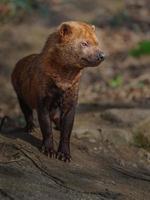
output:
<path id="1" fill-rule="evenodd" d="M 100 112 L 79 112 L 71 163 L 47 158 L 39 151 L 38 128 L 31 135 L 4 128 L 0 134 L 0 199 L 149 200 L 148 152 L 129 145 L 131 134 L 125 126 L 122 130 L 116 122 L 109 122 L 108 128 Z M 58 138 L 55 132 L 56 146 Z"/>

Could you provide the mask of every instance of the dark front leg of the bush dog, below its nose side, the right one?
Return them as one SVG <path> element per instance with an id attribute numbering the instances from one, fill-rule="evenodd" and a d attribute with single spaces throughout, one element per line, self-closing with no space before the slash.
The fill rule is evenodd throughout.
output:
<path id="1" fill-rule="evenodd" d="M 60 142 L 57 151 L 57 158 L 59 160 L 70 162 L 70 136 L 74 122 L 76 103 L 70 105 L 66 110 L 61 112 L 61 122 L 60 122 Z"/>

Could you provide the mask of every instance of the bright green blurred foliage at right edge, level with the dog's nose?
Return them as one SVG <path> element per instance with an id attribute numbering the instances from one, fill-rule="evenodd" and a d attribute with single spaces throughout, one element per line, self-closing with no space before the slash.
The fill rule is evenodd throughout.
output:
<path id="1" fill-rule="evenodd" d="M 138 43 L 137 47 L 131 49 L 129 54 L 133 57 L 150 54 L 150 40 L 144 40 Z"/>

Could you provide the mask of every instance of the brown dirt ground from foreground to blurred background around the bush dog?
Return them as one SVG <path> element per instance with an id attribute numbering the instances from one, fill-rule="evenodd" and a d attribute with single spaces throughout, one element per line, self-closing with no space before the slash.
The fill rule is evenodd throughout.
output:
<path id="1" fill-rule="evenodd" d="M 148 1 L 46 2 L 45 18 L 25 13 L 0 27 L 0 119 L 9 116 L 0 131 L 0 199 L 149 200 L 150 56 L 129 54 L 150 40 Z M 72 19 L 96 25 L 107 59 L 84 70 L 72 162 L 63 163 L 39 151 L 38 123 L 32 134 L 23 132 L 10 74 L 17 60 L 41 50 L 57 24 Z"/>

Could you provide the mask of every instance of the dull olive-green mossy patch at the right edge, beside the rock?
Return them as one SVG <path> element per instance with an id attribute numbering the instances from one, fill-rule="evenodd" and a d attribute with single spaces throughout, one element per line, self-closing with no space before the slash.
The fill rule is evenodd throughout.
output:
<path id="1" fill-rule="evenodd" d="M 134 145 L 139 148 L 150 150 L 150 140 L 140 132 L 136 133 L 134 136 Z"/>

